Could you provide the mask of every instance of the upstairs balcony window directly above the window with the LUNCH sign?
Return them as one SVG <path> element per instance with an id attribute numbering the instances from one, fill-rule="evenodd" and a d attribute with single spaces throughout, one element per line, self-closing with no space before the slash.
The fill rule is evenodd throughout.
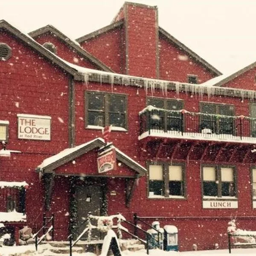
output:
<path id="1" fill-rule="evenodd" d="M 233 134 L 234 119 L 233 105 L 218 105 L 211 103 L 201 103 L 200 128 L 210 129 L 215 134 Z M 229 117 L 223 117 L 229 116 Z"/>

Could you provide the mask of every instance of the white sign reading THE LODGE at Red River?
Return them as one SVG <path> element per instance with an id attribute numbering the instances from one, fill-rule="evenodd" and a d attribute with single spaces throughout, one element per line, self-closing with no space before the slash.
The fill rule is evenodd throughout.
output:
<path id="1" fill-rule="evenodd" d="M 18 139 L 51 140 L 51 117 L 17 114 Z"/>

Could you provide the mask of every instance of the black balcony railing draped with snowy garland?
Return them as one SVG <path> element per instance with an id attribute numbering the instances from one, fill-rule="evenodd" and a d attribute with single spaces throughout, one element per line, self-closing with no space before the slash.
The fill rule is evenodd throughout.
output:
<path id="1" fill-rule="evenodd" d="M 256 143 L 256 118 L 148 106 L 140 112 L 139 139 L 147 136 Z"/>

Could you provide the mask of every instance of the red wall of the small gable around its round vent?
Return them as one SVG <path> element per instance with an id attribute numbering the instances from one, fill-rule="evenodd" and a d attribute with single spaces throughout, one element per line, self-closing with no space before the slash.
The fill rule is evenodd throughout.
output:
<path id="1" fill-rule="evenodd" d="M 63 58 L 65 61 L 76 64 L 81 67 L 87 67 L 91 69 L 101 70 L 92 61 L 89 61 L 87 58 L 79 55 L 76 50 L 71 49 L 67 46 L 61 39 L 53 34 L 46 33 L 44 35 L 40 35 L 34 38 L 39 44 L 44 44 L 46 42 L 50 42 L 55 45 L 57 48 L 56 55 Z"/>

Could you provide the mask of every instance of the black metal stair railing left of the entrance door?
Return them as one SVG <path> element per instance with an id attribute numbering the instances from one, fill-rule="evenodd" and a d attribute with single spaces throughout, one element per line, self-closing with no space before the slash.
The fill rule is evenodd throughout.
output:
<path id="1" fill-rule="evenodd" d="M 51 226 L 48 226 L 51 223 Z M 38 239 L 39 233 L 43 231 L 43 235 Z M 52 213 L 51 217 L 47 217 L 44 213 L 43 215 L 43 227 L 38 230 L 37 233 L 33 235 L 32 238 L 35 238 L 35 250 L 37 251 L 38 245 L 43 241 L 46 236 L 51 232 L 51 240 L 54 241 L 54 213 Z"/>

